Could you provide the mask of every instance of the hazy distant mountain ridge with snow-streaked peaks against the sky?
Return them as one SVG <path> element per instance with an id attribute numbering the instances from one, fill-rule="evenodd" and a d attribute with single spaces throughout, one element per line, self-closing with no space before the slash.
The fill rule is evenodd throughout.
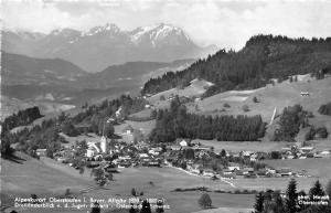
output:
<path id="1" fill-rule="evenodd" d="M 63 29 L 49 34 L 3 31 L 2 50 L 33 57 L 60 57 L 87 72 L 134 61 L 171 62 L 196 58 L 216 51 L 201 47 L 180 28 L 171 24 L 141 26 L 132 31 L 115 24 L 95 26 L 86 32 Z"/>

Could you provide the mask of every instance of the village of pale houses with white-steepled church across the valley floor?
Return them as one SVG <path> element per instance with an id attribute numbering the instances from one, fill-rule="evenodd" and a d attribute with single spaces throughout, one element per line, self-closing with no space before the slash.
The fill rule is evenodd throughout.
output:
<path id="1" fill-rule="evenodd" d="M 105 172 L 116 173 L 130 167 L 172 167 L 192 175 L 218 179 L 241 178 L 289 178 L 311 177 L 307 171 L 292 168 L 273 168 L 264 160 L 331 158 L 330 150 L 317 151 L 308 142 L 296 142 L 271 152 L 242 150 L 216 152 L 212 146 L 199 140 L 177 139 L 172 143 L 150 143 L 143 140 L 134 141 L 135 129 L 126 126 L 122 129 L 124 140 L 100 137 L 99 141 L 81 141 L 64 145 L 53 155 L 54 160 L 75 169 L 77 159 L 86 162 L 87 168 L 102 168 Z M 45 156 L 46 149 L 38 149 L 39 157 Z"/>

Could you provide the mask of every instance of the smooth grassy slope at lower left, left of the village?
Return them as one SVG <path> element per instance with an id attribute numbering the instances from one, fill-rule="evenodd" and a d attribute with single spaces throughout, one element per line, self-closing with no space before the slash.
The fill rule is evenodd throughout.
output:
<path id="1" fill-rule="evenodd" d="M 51 159 L 36 160 L 25 153 L 1 159 L 1 194 L 63 194 L 67 188 L 73 191 L 87 188 L 89 177 Z M 93 184 L 93 183 L 92 183 Z"/>

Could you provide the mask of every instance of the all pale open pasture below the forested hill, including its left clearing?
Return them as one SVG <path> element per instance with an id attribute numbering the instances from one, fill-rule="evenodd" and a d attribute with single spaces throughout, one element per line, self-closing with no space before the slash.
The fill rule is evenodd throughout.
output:
<path id="1" fill-rule="evenodd" d="M 172 88 L 149 97 L 149 103 L 158 109 L 168 108 L 173 96 L 179 95 L 185 102 L 189 113 L 204 116 L 261 116 L 267 123 L 264 140 L 270 140 L 277 128 L 277 120 L 270 124 L 271 116 L 276 108 L 276 116 L 280 115 L 285 107 L 299 104 L 305 110 L 311 111 L 313 117 L 309 124 L 316 127 L 327 127 L 331 131 L 331 117 L 318 113 L 319 107 L 331 99 L 330 77 L 316 79 L 308 75 L 295 75 L 297 82 L 284 81 L 281 83 L 268 84 L 265 87 L 246 90 L 227 90 L 210 97 L 199 98 L 205 89 L 212 86 L 204 79 L 194 79 L 183 88 Z M 207 87 L 205 87 L 209 85 Z M 193 89 L 195 88 L 195 89 Z M 196 89 L 199 88 L 199 89 Z M 202 92 L 202 93 L 200 93 Z M 309 93 L 309 96 L 301 96 L 301 92 Z M 281 102 L 280 102 L 281 100 Z M 247 107 L 247 110 L 243 108 Z M 134 116 L 149 117 L 151 109 L 143 109 Z M 301 129 L 297 139 L 305 140 L 309 128 Z"/>

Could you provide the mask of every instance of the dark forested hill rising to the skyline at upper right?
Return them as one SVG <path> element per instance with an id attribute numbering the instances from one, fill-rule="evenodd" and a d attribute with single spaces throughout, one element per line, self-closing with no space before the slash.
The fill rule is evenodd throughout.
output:
<path id="1" fill-rule="evenodd" d="M 286 79 L 295 74 L 317 74 L 331 70 L 331 38 L 307 40 L 256 35 L 238 52 L 221 50 L 199 60 L 182 72 L 166 73 L 149 79 L 141 93 L 156 94 L 183 87 L 194 78 L 214 83 L 205 96 L 228 89 L 257 88 L 271 78 Z"/>

